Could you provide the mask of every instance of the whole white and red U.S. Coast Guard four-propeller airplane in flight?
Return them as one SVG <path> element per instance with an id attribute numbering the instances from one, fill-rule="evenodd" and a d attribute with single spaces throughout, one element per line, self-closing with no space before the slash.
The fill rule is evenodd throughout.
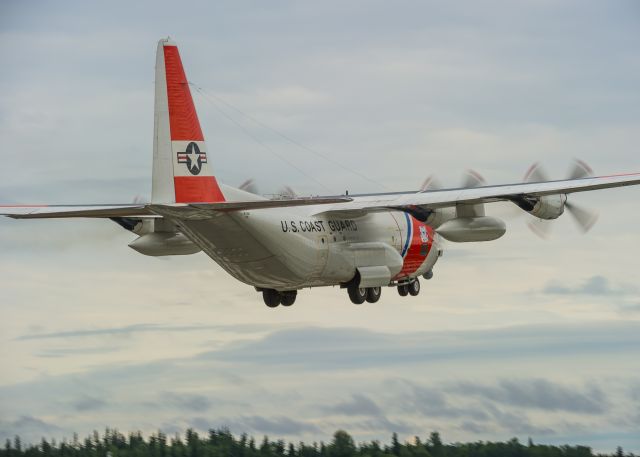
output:
<path id="1" fill-rule="evenodd" d="M 148 256 L 203 251 L 271 308 L 291 306 L 303 288 L 340 286 L 355 304 L 375 303 L 383 287 L 420 293 L 443 253 L 443 239 L 485 242 L 506 232 L 485 205 L 511 202 L 541 220 L 565 208 L 584 225 L 568 196 L 640 184 L 640 173 L 592 177 L 578 163 L 569 179 L 486 185 L 470 175 L 464 187 L 318 197 L 266 198 L 219 183 L 175 42 L 158 42 L 155 67 L 153 172 L 150 203 L 0 206 L 14 219 L 104 218 L 137 235 L 129 246 Z M 246 186 L 245 186 L 246 187 Z"/>

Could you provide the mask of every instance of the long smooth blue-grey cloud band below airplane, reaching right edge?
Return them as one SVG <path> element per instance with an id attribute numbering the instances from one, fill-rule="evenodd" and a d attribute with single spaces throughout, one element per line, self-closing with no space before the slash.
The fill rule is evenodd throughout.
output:
<path id="1" fill-rule="evenodd" d="M 615 328 L 615 330 L 614 330 Z M 588 335 L 588 341 L 585 336 Z M 306 327 L 273 332 L 263 339 L 233 343 L 203 359 L 257 364 L 271 368 L 357 369 L 379 365 L 426 363 L 442 360 L 521 357 L 533 352 L 578 354 L 631 350 L 640 343 L 634 322 L 606 327 L 521 326 L 487 331 L 415 332 L 388 335 L 358 328 Z"/>

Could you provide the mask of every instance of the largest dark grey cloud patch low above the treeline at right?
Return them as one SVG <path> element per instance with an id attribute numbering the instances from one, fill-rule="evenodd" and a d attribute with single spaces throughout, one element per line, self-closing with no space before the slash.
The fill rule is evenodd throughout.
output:
<path id="1" fill-rule="evenodd" d="M 503 380 L 495 386 L 463 382 L 450 390 L 462 396 L 546 411 L 603 414 L 610 406 L 606 394 L 596 386 L 578 388 L 546 379 Z"/>

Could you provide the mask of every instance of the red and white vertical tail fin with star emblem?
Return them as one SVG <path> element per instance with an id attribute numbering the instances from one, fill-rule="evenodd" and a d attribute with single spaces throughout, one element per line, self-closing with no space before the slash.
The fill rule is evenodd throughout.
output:
<path id="1" fill-rule="evenodd" d="M 177 45 L 158 42 L 156 54 L 152 203 L 224 201 Z"/>

